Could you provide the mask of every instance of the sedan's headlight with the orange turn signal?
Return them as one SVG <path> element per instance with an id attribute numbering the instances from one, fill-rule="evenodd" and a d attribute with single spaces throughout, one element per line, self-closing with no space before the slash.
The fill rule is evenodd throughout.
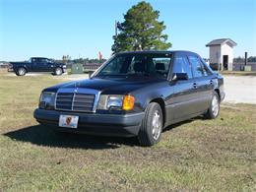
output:
<path id="1" fill-rule="evenodd" d="M 97 109 L 101 109 L 101 110 L 109 110 L 109 109 L 131 110 L 134 107 L 134 102 L 135 102 L 134 96 L 102 95 L 99 97 Z"/>

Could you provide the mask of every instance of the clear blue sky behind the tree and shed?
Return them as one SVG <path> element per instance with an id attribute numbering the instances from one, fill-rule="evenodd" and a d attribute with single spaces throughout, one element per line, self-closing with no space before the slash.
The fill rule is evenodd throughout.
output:
<path id="1" fill-rule="evenodd" d="M 111 55 L 114 22 L 136 0 L 0 0 L 0 60 L 32 56 L 54 59 L 104 58 Z M 234 56 L 256 56 L 256 0 L 148 0 L 172 43 L 209 57 L 205 45 L 229 37 Z"/>

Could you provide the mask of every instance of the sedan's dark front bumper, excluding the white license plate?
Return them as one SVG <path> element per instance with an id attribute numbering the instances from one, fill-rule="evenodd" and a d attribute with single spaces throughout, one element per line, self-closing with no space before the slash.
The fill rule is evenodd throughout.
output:
<path id="1" fill-rule="evenodd" d="M 58 126 L 60 114 L 79 116 L 78 128 L 62 128 Z M 59 131 L 85 133 L 102 136 L 137 136 L 144 112 L 134 114 L 97 114 L 62 112 L 55 110 L 35 109 L 33 117 L 43 125 L 55 127 Z"/>

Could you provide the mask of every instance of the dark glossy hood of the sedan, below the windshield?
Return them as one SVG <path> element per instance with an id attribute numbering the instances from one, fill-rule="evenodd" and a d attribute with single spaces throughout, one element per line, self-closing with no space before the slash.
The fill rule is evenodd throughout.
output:
<path id="1" fill-rule="evenodd" d="M 97 90 L 103 94 L 128 94 L 163 81 L 165 80 L 152 77 L 92 78 L 60 84 L 44 91 L 57 92 L 59 89 L 81 88 Z"/>

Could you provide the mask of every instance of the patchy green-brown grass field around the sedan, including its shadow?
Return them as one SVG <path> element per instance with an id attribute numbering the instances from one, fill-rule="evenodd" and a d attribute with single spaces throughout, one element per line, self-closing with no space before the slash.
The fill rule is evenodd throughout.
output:
<path id="1" fill-rule="evenodd" d="M 159 145 L 59 134 L 32 118 L 50 75 L 0 72 L 0 191 L 256 191 L 256 106 L 169 127 Z"/>

